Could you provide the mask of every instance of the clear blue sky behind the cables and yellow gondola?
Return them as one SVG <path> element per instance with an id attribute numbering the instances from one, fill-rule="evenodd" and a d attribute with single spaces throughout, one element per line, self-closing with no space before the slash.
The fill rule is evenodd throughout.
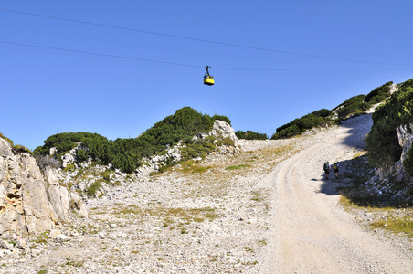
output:
<path id="1" fill-rule="evenodd" d="M 60 132 L 136 137 L 185 106 L 270 136 L 413 78 L 408 0 L 39 0 L 0 9 L 0 132 L 30 149 Z M 206 65 L 215 86 L 203 84 Z"/>

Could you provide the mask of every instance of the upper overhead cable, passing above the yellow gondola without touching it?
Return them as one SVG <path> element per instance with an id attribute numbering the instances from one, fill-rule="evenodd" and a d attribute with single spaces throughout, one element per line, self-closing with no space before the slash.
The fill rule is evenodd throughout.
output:
<path id="1" fill-rule="evenodd" d="M 90 26 L 110 27 L 110 28 L 114 28 L 114 29 L 122 29 L 122 30 L 127 30 L 127 31 L 140 32 L 140 33 L 150 34 L 150 35 L 155 35 L 155 36 L 174 37 L 174 38 L 179 38 L 179 39 L 216 44 L 216 45 L 221 45 L 221 46 L 241 47 L 241 48 L 248 48 L 248 49 L 260 50 L 260 51 L 269 51 L 269 52 L 276 52 L 276 53 L 281 53 L 281 54 L 302 56 L 302 57 L 323 58 L 323 59 L 331 59 L 331 60 L 336 60 L 336 61 L 346 61 L 346 62 L 376 64 L 376 65 L 387 65 L 387 66 L 413 66 L 413 65 L 408 65 L 408 64 L 392 64 L 392 63 L 372 62 L 372 61 L 364 61 L 364 60 L 349 59 L 349 58 L 325 57 L 325 56 L 304 54 L 304 53 L 291 52 L 291 51 L 283 51 L 283 50 L 279 50 L 279 49 L 272 49 L 272 48 L 265 48 L 265 47 L 252 47 L 252 46 L 238 45 L 238 44 L 233 44 L 233 43 L 219 42 L 219 41 L 206 40 L 206 39 L 200 39 L 200 38 L 194 38 L 194 37 L 176 36 L 176 35 L 171 35 L 171 34 L 165 34 L 165 33 L 160 33 L 160 32 L 154 32 L 154 31 L 142 30 L 142 29 L 137 29 L 137 28 L 125 27 L 125 26 L 113 26 L 113 25 L 107 25 L 107 24 L 101 24 L 101 23 L 94 23 L 94 22 L 81 21 L 81 20 L 76 20 L 76 19 L 63 18 L 63 17 L 58 17 L 58 16 L 38 15 L 38 14 L 33 14 L 33 13 L 27 13 L 27 12 L 22 12 L 22 11 L 5 9 L 5 8 L 0 8 L 0 11 L 9 12 L 9 13 L 16 13 L 16 14 L 21 14 L 21 15 L 26 15 L 26 16 L 44 17 L 44 18 L 55 19 L 55 20 L 60 20 L 60 21 L 67 21 L 67 22 L 85 24 L 85 25 L 90 25 Z"/>

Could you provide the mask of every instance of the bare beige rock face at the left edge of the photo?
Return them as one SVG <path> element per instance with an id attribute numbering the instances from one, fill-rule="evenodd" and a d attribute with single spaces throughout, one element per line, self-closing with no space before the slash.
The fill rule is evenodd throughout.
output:
<path id="1" fill-rule="evenodd" d="M 70 200 L 76 197 L 58 185 L 52 170 L 46 174 L 48 183 L 32 155 L 13 153 L 0 138 L 0 235 L 37 234 L 69 220 L 70 204 L 76 205 Z"/>

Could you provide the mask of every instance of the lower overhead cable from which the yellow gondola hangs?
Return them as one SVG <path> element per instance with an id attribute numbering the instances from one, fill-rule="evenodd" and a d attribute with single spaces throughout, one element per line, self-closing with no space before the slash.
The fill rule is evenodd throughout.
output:
<path id="1" fill-rule="evenodd" d="M 159 63 L 159 64 L 185 66 L 185 67 L 191 67 L 191 68 L 205 68 L 205 66 L 198 66 L 198 65 L 192 65 L 192 64 L 161 61 L 161 60 L 154 60 L 154 59 L 148 59 L 148 58 L 133 58 L 133 57 L 122 56 L 122 55 L 98 53 L 98 52 L 91 52 L 91 51 L 84 51 L 84 50 L 77 50 L 77 49 L 61 48 L 61 47 L 47 47 L 47 46 L 16 43 L 16 42 L 2 41 L 2 40 L 0 40 L 0 43 L 8 44 L 8 45 L 15 45 L 15 46 L 37 47 L 37 48 L 58 50 L 58 51 L 71 52 L 71 53 L 80 53 L 80 54 L 86 54 L 86 55 L 92 55 L 92 56 L 98 56 L 98 57 L 106 57 L 106 58 L 122 58 L 122 59 L 136 60 L 136 61 Z M 404 69 L 409 69 L 409 68 L 365 69 L 365 70 L 357 69 L 357 70 L 355 70 L 355 69 L 287 69 L 287 68 L 222 68 L 222 67 L 214 67 L 214 69 L 249 70 L 249 71 L 262 71 L 262 72 L 271 72 L 271 71 L 272 72 L 373 72 L 373 71 L 404 70 Z"/>

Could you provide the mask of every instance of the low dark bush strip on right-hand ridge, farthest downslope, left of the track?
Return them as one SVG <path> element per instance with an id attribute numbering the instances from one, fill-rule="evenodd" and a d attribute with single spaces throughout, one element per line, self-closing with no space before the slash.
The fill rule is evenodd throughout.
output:
<path id="1" fill-rule="evenodd" d="M 313 111 L 310 114 L 302 116 L 302 118 L 295 119 L 294 121 L 277 128 L 277 132 L 271 136 L 271 140 L 291 138 L 305 132 L 306 130 L 312 129 L 313 127 L 319 127 L 332 123 L 333 121 L 328 118 L 331 114 L 332 111 L 326 109 Z"/>

